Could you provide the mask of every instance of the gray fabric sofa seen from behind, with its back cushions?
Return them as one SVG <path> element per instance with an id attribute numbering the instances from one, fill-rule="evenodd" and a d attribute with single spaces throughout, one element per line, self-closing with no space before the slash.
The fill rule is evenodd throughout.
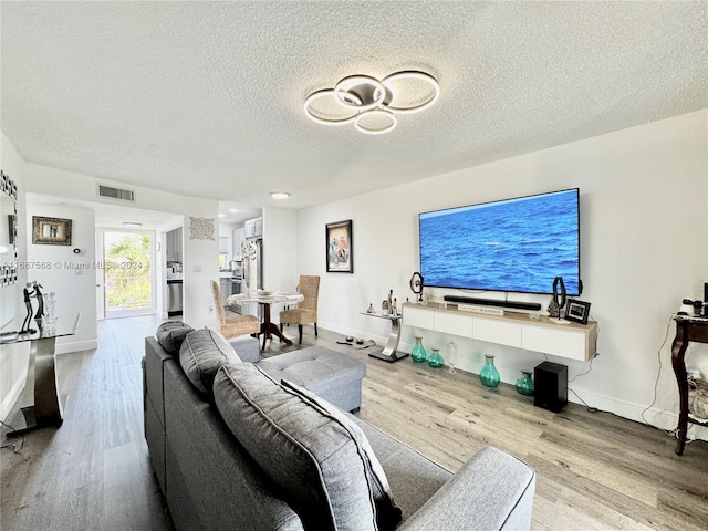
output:
<path id="1" fill-rule="evenodd" d="M 535 476 L 513 456 L 486 448 L 452 475 L 322 397 L 356 369 L 324 369 L 326 385 L 293 357 L 296 382 L 281 356 L 243 363 L 248 340 L 186 337 L 146 337 L 144 360 L 145 436 L 178 530 L 530 528 Z"/>

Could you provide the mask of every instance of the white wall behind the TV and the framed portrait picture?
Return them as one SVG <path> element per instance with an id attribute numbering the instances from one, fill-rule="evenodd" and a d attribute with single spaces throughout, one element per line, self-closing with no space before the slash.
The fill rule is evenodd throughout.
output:
<path id="1" fill-rule="evenodd" d="M 681 298 L 701 299 L 708 281 L 707 123 L 704 110 L 300 211 L 298 269 L 322 275 L 321 326 L 385 340 L 387 324 L 358 312 L 372 302 L 378 308 L 389 289 L 399 301 L 413 299 L 408 280 L 418 269 L 418 212 L 580 187 L 580 299 L 592 303 L 591 316 L 600 323 L 600 356 L 571 388 L 593 406 L 639 419 L 654 398 L 662 347 L 658 397 L 646 417 L 674 428 L 670 316 Z M 325 273 L 324 225 L 343 219 L 353 220 L 354 274 Z M 512 298 L 543 308 L 550 301 Z M 410 348 L 417 332 L 428 348 L 449 341 L 404 327 L 403 348 Z M 541 353 L 456 342 L 462 368 L 478 373 L 483 354 L 494 354 L 507 383 L 544 361 Z M 706 345 L 691 346 L 689 362 L 708 376 L 706 352 Z M 589 368 L 549 360 L 568 365 L 571 378 Z M 577 400 L 572 393 L 569 398 Z"/>

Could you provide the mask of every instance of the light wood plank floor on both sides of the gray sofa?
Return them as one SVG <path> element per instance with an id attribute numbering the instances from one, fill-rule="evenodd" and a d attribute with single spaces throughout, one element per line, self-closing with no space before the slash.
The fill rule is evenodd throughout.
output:
<path id="1" fill-rule="evenodd" d="M 143 342 L 158 324 L 103 321 L 96 351 L 59 356 L 64 424 L 27 435 L 19 454 L 2 449 L 3 531 L 171 529 L 143 437 Z M 574 404 L 553 414 L 513 386 L 487 389 L 473 374 L 410 358 L 389 364 L 340 339 L 305 326 L 302 346 L 366 362 L 364 420 L 450 470 L 487 445 L 533 466 L 534 531 L 708 529 L 708 442 L 678 457 L 676 439 L 652 427 Z M 269 354 L 296 347 L 275 341 Z"/>

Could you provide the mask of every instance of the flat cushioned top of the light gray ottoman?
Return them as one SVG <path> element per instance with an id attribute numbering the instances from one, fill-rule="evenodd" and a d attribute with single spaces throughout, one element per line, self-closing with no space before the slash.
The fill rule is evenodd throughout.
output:
<path id="1" fill-rule="evenodd" d="M 323 346 L 279 354 L 262 360 L 258 366 L 275 382 L 287 379 L 317 395 L 366 376 L 365 363 Z"/>

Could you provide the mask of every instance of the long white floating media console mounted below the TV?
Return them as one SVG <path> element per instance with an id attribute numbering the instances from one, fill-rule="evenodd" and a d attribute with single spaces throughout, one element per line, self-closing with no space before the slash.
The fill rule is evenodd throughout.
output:
<path id="1" fill-rule="evenodd" d="M 597 323 L 555 324 L 548 315 L 531 320 L 528 313 L 506 312 L 490 315 L 458 310 L 448 303 L 426 306 L 417 303 L 403 305 L 403 324 L 434 330 L 472 340 L 542 352 L 571 360 L 587 361 L 597 352 Z"/>

